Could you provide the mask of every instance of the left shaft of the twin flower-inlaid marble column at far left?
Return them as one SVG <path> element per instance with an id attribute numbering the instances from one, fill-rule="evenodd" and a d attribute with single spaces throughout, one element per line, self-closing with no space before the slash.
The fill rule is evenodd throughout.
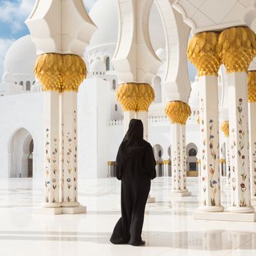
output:
<path id="1" fill-rule="evenodd" d="M 42 206 L 59 208 L 59 91 L 45 91 L 43 97 L 45 182 Z"/>

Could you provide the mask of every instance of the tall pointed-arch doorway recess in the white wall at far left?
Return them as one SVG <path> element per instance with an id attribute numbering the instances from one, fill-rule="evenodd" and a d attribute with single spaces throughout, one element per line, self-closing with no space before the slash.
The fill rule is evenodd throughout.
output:
<path id="1" fill-rule="evenodd" d="M 33 177 L 34 140 L 27 129 L 18 129 L 9 143 L 9 177 Z"/>

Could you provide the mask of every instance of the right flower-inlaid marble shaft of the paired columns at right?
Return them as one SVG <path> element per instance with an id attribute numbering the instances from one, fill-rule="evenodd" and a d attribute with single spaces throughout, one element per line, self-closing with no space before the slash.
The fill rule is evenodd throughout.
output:
<path id="1" fill-rule="evenodd" d="M 249 184 L 249 134 L 246 72 L 228 74 L 230 116 L 230 211 L 252 213 Z"/>

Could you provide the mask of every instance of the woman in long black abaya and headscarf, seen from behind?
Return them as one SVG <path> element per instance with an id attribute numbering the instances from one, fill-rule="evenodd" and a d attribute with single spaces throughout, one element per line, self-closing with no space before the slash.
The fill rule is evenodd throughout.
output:
<path id="1" fill-rule="evenodd" d="M 143 140 L 143 123 L 132 119 L 116 157 L 116 178 L 121 180 L 121 218 L 110 238 L 113 244 L 145 244 L 141 232 L 151 179 L 156 178 L 155 165 L 152 147 Z"/>

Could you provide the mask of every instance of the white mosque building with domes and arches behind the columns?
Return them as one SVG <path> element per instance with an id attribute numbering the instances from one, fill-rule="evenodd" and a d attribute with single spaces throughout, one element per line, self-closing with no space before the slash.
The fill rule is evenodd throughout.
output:
<path id="1" fill-rule="evenodd" d="M 104 13 L 108 15 L 104 15 Z M 84 53 L 89 67 L 87 79 L 78 92 L 78 169 L 83 178 L 113 175 L 118 145 L 124 136 L 124 112 L 116 99 L 118 76 L 112 59 L 118 37 L 116 1 L 99 0 L 90 12 L 98 29 Z M 162 61 L 152 79 L 155 99 L 148 111 L 148 141 L 154 148 L 157 175 L 171 175 L 171 127 L 165 115 L 167 98 L 162 80 L 166 69 L 165 35 L 162 20 L 153 4 L 149 18 L 151 44 Z M 43 168 L 43 92 L 34 76 L 36 47 L 30 35 L 14 42 L 4 59 L 4 75 L 0 88 L 0 165 L 2 178 L 42 178 Z M 219 71 L 219 107 L 223 105 L 225 69 Z M 195 78 L 189 105 L 192 115 L 186 126 L 187 175 L 200 170 L 199 151 L 199 84 Z M 220 135 L 219 148 L 222 173 L 225 175 L 225 137 Z"/>

